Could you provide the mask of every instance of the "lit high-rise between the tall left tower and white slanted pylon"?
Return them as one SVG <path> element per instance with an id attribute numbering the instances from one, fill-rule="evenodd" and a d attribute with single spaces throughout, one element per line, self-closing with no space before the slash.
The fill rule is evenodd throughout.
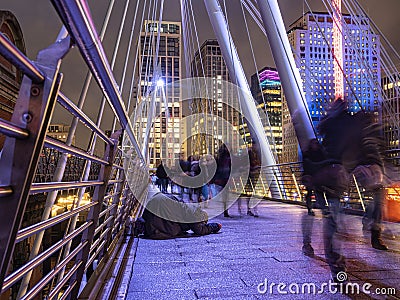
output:
<path id="1" fill-rule="evenodd" d="M 206 88 L 208 97 L 192 99 L 191 102 L 191 112 L 198 118 L 195 118 L 191 127 L 189 152 L 215 154 L 221 142 L 228 143 L 232 149 L 239 149 L 237 91 L 231 84 L 217 40 L 206 40 L 201 45 L 193 58 L 191 69 L 192 77 L 207 78 L 205 82 L 209 85 L 202 84 L 200 80 L 197 88 Z"/>

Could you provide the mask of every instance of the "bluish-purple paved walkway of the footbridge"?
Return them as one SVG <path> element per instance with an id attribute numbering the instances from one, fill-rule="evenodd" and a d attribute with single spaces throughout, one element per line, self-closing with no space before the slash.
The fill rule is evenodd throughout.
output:
<path id="1" fill-rule="evenodd" d="M 136 239 L 119 298 L 385 299 L 377 293 L 393 293 L 389 288 L 396 290 L 397 298 L 387 298 L 400 298 L 400 224 L 387 225 L 395 238 L 386 236 L 390 250 L 378 251 L 370 247 L 370 234 L 362 231 L 361 218 L 344 215 L 341 235 L 348 280 L 360 289 L 364 285 L 371 294 L 331 293 L 325 286 L 322 294 L 313 295 L 307 292 L 307 284 L 311 290 L 315 285 L 318 293 L 330 280 L 320 212 L 314 217 L 315 257 L 309 258 L 301 252 L 303 207 L 264 201 L 258 208 L 259 218 L 239 216 L 237 211 L 234 205 L 230 209 L 233 218 L 212 220 L 223 224 L 218 234 L 161 241 Z M 279 283 L 286 284 L 281 286 L 286 295 L 279 292 Z"/>

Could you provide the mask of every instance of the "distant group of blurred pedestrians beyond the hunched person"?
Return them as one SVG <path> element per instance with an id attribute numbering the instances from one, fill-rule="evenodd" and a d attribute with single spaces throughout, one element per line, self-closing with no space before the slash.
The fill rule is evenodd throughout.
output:
<path id="1" fill-rule="evenodd" d="M 172 166 L 165 166 L 161 162 L 156 171 L 151 174 L 151 181 L 162 193 L 177 195 L 181 200 L 192 203 L 205 202 L 219 195 L 222 199 L 224 217 L 231 217 L 227 192 L 232 185 L 232 175 L 247 174 L 244 179 L 244 192 L 238 199 L 238 213 L 243 214 L 242 201 L 246 202 L 245 214 L 258 217 L 256 207 L 251 206 L 250 196 L 260 176 L 260 154 L 258 144 L 254 141 L 246 151 L 231 154 L 228 146 L 221 144 L 215 155 L 189 155 L 185 159 L 181 153 L 179 159 Z M 232 157 L 238 168 L 232 173 Z M 191 181 L 190 179 L 193 179 Z M 194 180 L 196 179 L 196 180 Z M 227 187 L 227 189 L 225 189 Z M 222 191 L 225 190 L 224 193 Z"/>

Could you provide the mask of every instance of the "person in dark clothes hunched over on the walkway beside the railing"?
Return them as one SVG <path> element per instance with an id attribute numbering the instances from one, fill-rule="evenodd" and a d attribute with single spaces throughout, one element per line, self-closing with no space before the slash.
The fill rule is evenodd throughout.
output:
<path id="1" fill-rule="evenodd" d="M 143 212 L 144 236 L 150 239 L 169 239 L 187 235 L 217 233 L 222 225 L 208 223 L 207 212 L 196 203 L 184 203 L 172 195 L 155 194 Z"/>

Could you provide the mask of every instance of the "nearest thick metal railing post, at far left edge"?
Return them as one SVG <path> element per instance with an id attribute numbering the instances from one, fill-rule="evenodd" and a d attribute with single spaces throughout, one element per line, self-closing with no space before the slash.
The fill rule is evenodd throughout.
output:
<path id="1" fill-rule="evenodd" d="M 47 127 L 53 114 L 62 75 L 60 60 L 70 48 L 70 39 L 39 52 L 36 65 L 43 70 L 43 82 L 32 83 L 24 76 L 11 122 L 25 129 L 26 139 L 7 137 L 0 159 L 0 187 L 11 193 L 0 195 L 0 286 L 6 275 Z"/>

